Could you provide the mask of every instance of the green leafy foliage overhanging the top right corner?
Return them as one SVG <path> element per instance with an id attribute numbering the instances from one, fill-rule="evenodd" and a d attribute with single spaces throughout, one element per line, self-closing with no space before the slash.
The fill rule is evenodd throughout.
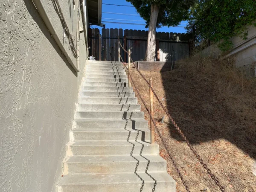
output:
<path id="1" fill-rule="evenodd" d="M 230 38 L 247 38 L 247 27 L 256 26 L 255 0 L 197 0 L 190 11 L 188 32 L 218 42 L 222 51 L 232 48 Z"/>

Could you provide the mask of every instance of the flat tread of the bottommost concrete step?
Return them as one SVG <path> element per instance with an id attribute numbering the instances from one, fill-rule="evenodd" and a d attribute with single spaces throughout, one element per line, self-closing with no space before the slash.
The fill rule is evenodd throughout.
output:
<path id="1" fill-rule="evenodd" d="M 175 182 L 167 172 L 149 173 L 151 177 L 160 182 Z M 140 173 L 145 183 L 155 181 L 146 173 Z M 59 186 L 61 185 L 101 185 L 105 183 L 140 183 L 140 178 L 134 173 L 116 173 L 116 174 L 73 174 L 64 175 L 61 178 Z M 157 187 L 157 186 L 156 186 Z"/>

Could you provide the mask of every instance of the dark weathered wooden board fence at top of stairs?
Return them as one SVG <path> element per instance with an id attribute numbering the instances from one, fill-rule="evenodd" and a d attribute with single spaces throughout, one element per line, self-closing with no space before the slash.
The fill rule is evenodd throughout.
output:
<path id="1" fill-rule="evenodd" d="M 156 34 L 156 61 L 177 61 L 189 56 L 192 35 L 184 33 Z M 131 49 L 134 61 L 143 61 L 147 48 L 148 31 L 125 29 L 89 29 L 90 55 L 99 61 L 118 61 L 118 39 L 126 50 Z M 122 58 L 128 61 L 128 55 L 121 49 Z"/>

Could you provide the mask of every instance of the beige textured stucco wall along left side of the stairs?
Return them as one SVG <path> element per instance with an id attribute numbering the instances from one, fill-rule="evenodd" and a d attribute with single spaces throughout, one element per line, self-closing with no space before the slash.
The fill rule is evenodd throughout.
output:
<path id="1" fill-rule="evenodd" d="M 63 38 L 52 0 L 42 2 Z M 59 2 L 76 37 L 73 0 Z M 0 191 L 52 192 L 62 173 L 86 47 L 80 46 L 76 73 L 32 0 L 0 0 L 0 31 Z"/>

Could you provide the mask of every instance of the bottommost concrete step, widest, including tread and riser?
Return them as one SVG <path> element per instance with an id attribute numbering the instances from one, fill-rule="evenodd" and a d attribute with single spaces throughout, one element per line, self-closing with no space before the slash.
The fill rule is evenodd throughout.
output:
<path id="1" fill-rule="evenodd" d="M 176 192 L 168 173 L 64 175 L 58 183 L 62 192 Z M 152 177 L 152 178 L 151 178 Z"/>

